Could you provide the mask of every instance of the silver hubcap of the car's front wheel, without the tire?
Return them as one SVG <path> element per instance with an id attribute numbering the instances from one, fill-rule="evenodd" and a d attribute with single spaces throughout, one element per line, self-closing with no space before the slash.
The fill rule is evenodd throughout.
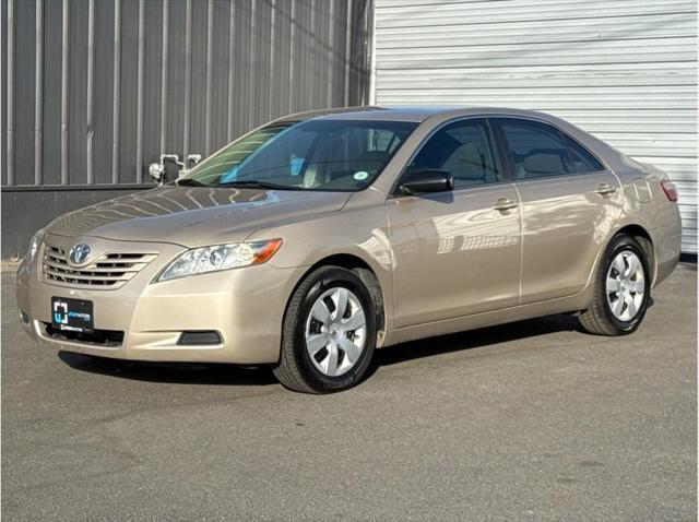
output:
<path id="1" fill-rule="evenodd" d="M 306 349 L 323 375 L 339 377 L 359 360 L 366 342 L 364 308 L 347 288 L 325 290 L 313 304 L 306 321 Z"/>

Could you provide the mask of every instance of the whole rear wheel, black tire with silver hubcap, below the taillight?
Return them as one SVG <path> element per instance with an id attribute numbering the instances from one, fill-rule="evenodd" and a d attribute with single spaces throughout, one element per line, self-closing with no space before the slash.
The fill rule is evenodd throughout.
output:
<path id="1" fill-rule="evenodd" d="M 639 295 L 641 288 L 643 294 Z M 580 324 L 595 335 L 627 335 L 641 324 L 650 297 L 651 273 L 645 253 L 632 237 L 619 234 L 602 256 L 594 275 L 592 302 L 581 313 Z"/>

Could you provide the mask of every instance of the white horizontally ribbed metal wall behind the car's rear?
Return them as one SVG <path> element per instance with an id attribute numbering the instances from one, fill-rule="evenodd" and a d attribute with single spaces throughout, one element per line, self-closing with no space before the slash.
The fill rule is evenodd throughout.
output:
<path id="1" fill-rule="evenodd" d="M 556 114 L 677 181 L 697 252 L 695 0 L 377 0 L 376 102 Z"/>

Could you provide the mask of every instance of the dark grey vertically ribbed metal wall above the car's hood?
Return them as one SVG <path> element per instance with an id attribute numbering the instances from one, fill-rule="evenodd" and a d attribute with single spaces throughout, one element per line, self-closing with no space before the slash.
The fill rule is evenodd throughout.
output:
<path id="1" fill-rule="evenodd" d="M 368 99 L 370 0 L 2 0 L 0 14 L 3 189 L 149 182 L 162 152 L 206 155 L 274 117 Z"/>

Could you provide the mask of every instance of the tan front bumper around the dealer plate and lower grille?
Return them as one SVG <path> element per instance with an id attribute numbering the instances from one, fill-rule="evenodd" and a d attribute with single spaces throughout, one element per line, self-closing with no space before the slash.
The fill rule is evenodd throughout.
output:
<path id="1" fill-rule="evenodd" d="M 51 238 L 56 241 L 74 239 Z M 125 249 L 123 241 L 98 240 L 105 250 Z M 143 247 L 142 244 L 140 244 Z M 23 261 L 17 270 L 17 306 L 25 331 L 58 349 L 132 360 L 265 364 L 279 360 L 287 297 L 305 269 L 260 264 L 151 284 L 185 249 L 169 244 L 145 248 L 157 258 L 117 289 L 93 289 L 47 283 L 40 260 Z M 114 345 L 68 341 L 50 335 L 51 297 L 88 299 L 94 328 L 123 332 Z M 178 345 L 186 331 L 216 331 L 220 344 Z"/>

